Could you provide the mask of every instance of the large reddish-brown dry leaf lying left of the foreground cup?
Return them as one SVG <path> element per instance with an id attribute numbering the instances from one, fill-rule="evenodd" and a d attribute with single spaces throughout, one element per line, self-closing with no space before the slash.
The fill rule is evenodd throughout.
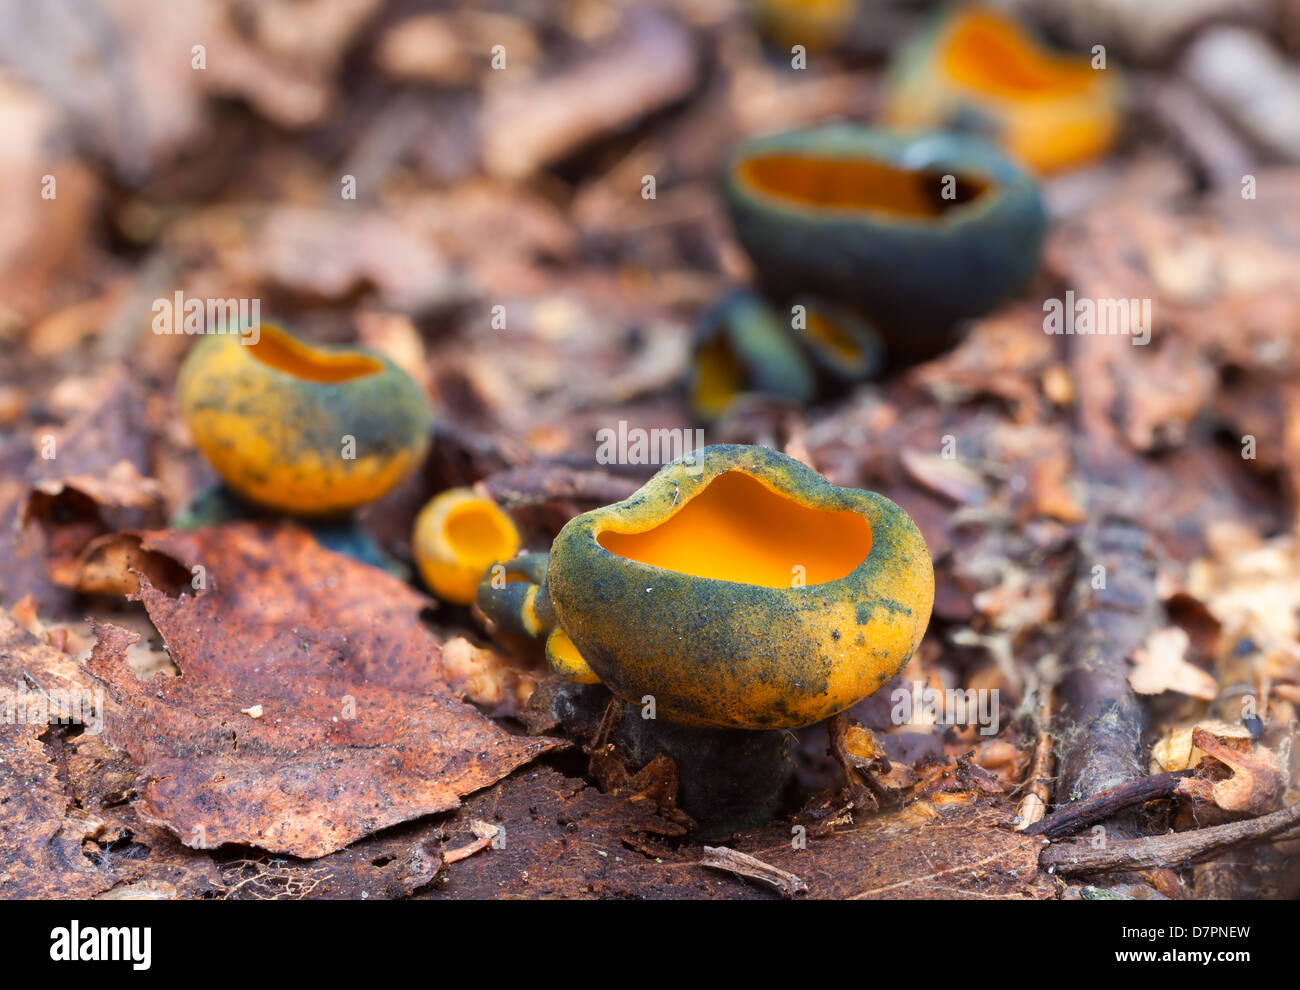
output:
<path id="1" fill-rule="evenodd" d="M 296 526 L 150 533 L 142 546 L 203 568 L 196 595 L 140 579 L 182 677 L 140 682 L 125 660 L 135 635 L 109 625 L 90 669 L 121 704 L 107 735 L 139 767 L 138 811 L 191 847 L 322 856 L 454 808 L 560 744 L 456 700 L 420 622 L 426 599 Z M 255 704 L 260 718 L 240 717 Z"/>

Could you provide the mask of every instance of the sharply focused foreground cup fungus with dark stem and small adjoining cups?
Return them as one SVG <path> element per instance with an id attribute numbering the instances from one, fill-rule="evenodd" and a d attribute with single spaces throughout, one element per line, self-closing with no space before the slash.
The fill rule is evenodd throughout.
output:
<path id="1" fill-rule="evenodd" d="M 879 690 L 930 622 L 933 568 L 906 512 L 764 447 L 705 447 L 572 518 L 517 589 L 480 585 L 498 629 L 623 702 L 619 744 L 667 752 L 711 834 L 771 813 L 784 731 Z M 646 712 L 653 712 L 647 717 Z"/>

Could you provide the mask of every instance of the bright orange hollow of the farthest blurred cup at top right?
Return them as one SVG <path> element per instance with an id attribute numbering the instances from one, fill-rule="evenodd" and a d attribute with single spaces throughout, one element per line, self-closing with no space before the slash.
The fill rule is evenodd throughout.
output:
<path id="1" fill-rule="evenodd" d="M 962 16 L 942 65 L 957 82 L 1020 99 L 1079 92 L 1096 81 L 1086 60 L 1044 52 L 1015 22 L 987 10 Z"/>

